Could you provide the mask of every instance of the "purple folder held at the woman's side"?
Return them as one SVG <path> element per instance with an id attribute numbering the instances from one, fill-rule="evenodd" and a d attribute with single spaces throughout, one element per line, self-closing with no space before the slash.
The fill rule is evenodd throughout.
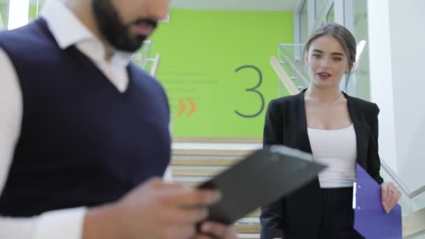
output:
<path id="1" fill-rule="evenodd" d="M 380 184 L 377 184 L 359 164 L 356 168 L 354 229 L 366 239 L 401 239 L 400 205 L 397 204 L 387 214 L 382 207 Z"/>

